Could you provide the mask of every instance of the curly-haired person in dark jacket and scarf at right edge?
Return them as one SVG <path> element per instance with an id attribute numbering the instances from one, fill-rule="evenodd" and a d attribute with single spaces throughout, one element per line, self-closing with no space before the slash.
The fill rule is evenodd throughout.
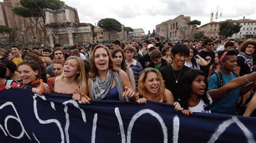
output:
<path id="1" fill-rule="evenodd" d="M 255 51 L 256 40 L 247 39 L 239 47 L 240 53 L 237 55 L 237 68 L 235 72 L 240 76 L 252 73 L 253 70 L 253 54 Z"/>

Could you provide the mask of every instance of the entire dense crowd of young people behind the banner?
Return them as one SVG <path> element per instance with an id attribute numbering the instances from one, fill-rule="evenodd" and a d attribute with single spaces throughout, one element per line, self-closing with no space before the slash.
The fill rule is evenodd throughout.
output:
<path id="1" fill-rule="evenodd" d="M 256 40 L 160 40 L 0 48 L 0 90 L 173 104 L 177 112 L 256 116 Z"/>

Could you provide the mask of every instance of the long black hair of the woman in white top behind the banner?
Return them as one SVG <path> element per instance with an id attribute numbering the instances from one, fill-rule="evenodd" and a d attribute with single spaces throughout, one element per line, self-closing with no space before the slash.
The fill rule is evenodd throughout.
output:
<path id="1" fill-rule="evenodd" d="M 184 109 L 188 109 L 188 99 L 190 98 L 191 95 L 191 85 L 194 80 L 198 75 L 203 75 L 205 77 L 205 93 L 204 95 L 201 96 L 203 98 L 204 103 L 206 104 L 206 110 L 210 110 L 211 104 L 210 100 L 207 97 L 207 89 L 208 89 L 208 81 L 207 77 L 204 73 L 204 71 L 198 70 L 198 69 L 192 69 L 186 71 L 186 73 L 183 75 L 183 78 L 181 78 L 181 85 L 183 85 L 183 90 L 180 92 L 180 97 L 179 97 L 179 102 L 181 107 Z"/>

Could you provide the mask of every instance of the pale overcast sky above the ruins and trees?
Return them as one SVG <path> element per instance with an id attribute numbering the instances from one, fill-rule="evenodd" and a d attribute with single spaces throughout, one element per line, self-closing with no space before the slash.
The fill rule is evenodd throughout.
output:
<path id="1" fill-rule="evenodd" d="M 174 19 L 179 15 L 190 16 L 191 20 L 210 22 L 211 11 L 222 10 L 217 21 L 225 19 L 256 19 L 255 0 L 64 0 L 65 4 L 76 8 L 80 22 L 95 25 L 103 18 L 114 18 L 132 28 L 143 28 L 145 34 L 157 24 Z M 214 19 L 215 21 L 215 19 Z"/>

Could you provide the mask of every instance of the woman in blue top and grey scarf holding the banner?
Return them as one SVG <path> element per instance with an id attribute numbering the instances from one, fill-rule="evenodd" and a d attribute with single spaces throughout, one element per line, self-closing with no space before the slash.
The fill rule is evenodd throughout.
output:
<path id="1" fill-rule="evenodd" d="M 91 54 L 91 73 L 87 82 L 89 98 L 82 97 L 82 103 L 89 100 L 134 101 L 129 77 L 114 64 L 109 48 L 97 45 Z"/>

